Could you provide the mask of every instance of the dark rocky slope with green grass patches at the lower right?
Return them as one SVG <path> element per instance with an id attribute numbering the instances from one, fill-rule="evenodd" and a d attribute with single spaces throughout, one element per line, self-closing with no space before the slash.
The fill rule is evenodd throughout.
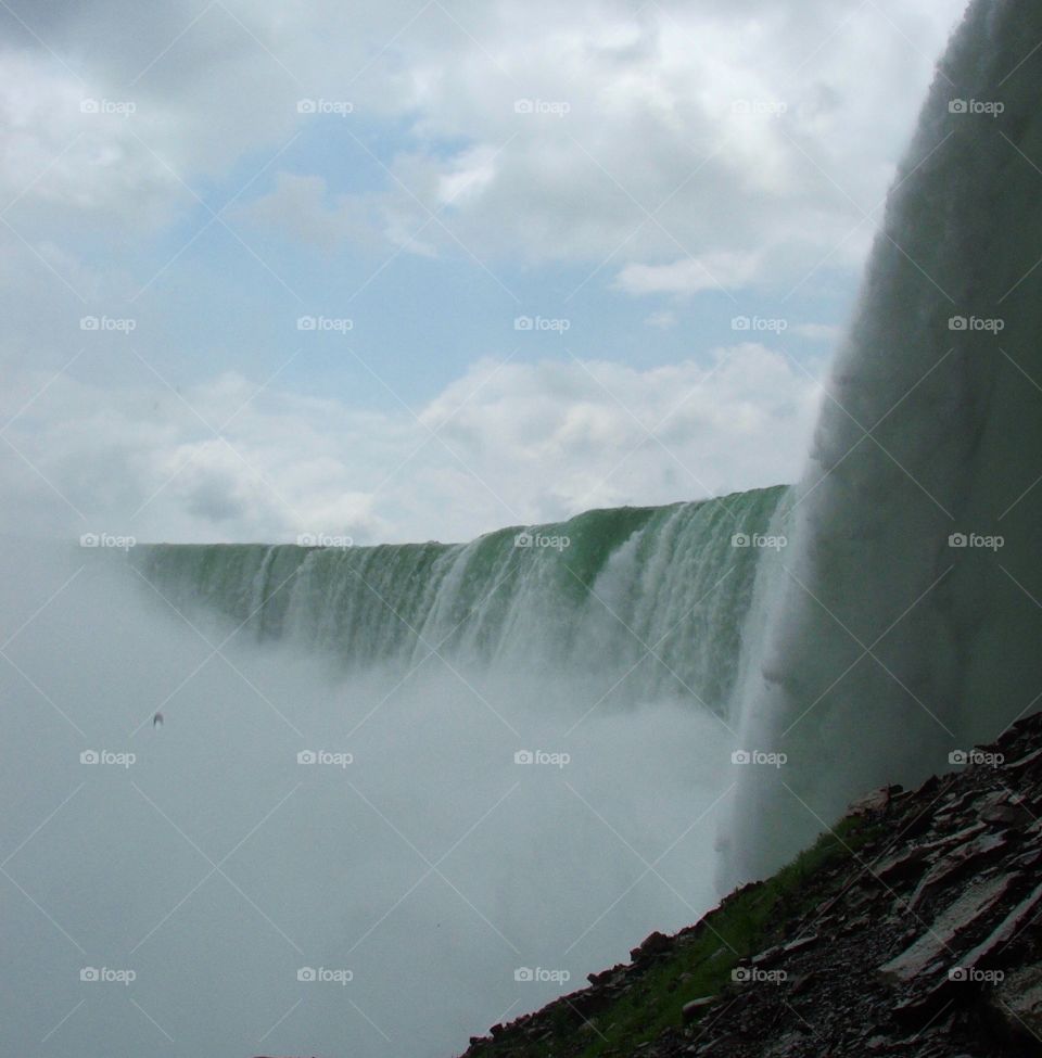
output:
<path id="1" fill-rule="evenodd" d="M 1042 713 L 969 760 L 917 791 L 862 798 L 842 831 L 856 839 L 795 889 L 742 887 L 465 1058 L 1042 1056 Z M 707 994 L 685 953 L 758 892 L 770 916 L 746 951 L 702 959 L 723 968 Z M 635 1007 L 639 1043 L 618 1023 Z"/>

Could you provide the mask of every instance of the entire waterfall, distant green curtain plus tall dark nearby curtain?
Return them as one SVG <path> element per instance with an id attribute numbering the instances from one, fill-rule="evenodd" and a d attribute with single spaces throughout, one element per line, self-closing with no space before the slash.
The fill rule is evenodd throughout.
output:
<path id="1" fill-rule="evenodd" d="M 953 38 L 796 489 L 593 511 L 531 547 L 155 546 L 139 572 L 353 672 L 436 654 L 708 709 L 787 759 L 736 773 L 728 882 L 945 766 L 1042 689 L 1039 36 L 1039 10 L 980 0 Z M 784 551 L 733 546 L 783 527 Z"/>

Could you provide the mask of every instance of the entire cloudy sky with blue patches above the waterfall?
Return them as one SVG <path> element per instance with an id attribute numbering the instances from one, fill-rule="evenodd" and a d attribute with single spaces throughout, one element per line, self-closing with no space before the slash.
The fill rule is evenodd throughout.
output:
<path id="1" fill-rule="evenodd" d="M 5 0 L 0 531 L 792 480 L 963 5 Z"/>

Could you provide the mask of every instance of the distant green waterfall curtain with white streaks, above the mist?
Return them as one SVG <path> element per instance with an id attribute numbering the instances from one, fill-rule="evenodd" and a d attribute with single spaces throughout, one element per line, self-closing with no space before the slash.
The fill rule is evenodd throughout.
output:
<path id="1" fill-rule="evenodd" d="M 138 568 L 181 609 L 202 601 L 345 670 L 405 672 L 436 651 L 471 671 L 567 674 L 589 705 L 676 698 L 724 717 L 757 545 L 787 493 L 589 511 L 465 545 L 155 546 Z"/>

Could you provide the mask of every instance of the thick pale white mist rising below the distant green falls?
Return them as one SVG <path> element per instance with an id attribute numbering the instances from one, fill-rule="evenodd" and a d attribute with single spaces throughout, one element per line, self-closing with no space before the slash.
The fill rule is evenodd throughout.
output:
<path id="1" fill-rule="evenodd" d="M 10 1053 L 444 1056 L 713 902 L 711 715 L 576 725 L 563 673 L 345 675 L 120 553 L 3 566 Z"/>

